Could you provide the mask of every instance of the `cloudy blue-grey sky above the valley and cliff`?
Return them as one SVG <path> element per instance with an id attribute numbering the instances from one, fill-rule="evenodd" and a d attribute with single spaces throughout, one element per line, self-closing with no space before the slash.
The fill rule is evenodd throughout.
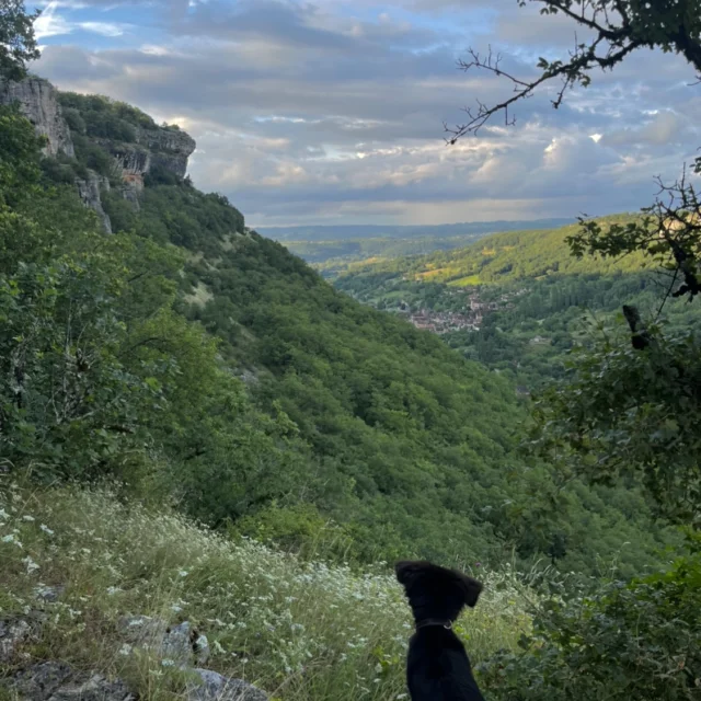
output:
<path id="1" fill-rule="evenodd" d="M 30 4 L 30 3 L 27 3 Z M 533 3 L 531 3 L 533 4 Z M 31 5 L 30 5 L 31 7 Z M 32 67 L 197 141 L 195 184 L 250 226 L 451 223 L 590 216 L 650 204 L 701 146 L 701 84 L 675 55 L 639 51 L 553 110 L 547 91 L 456 146 L 503 80 L 456 61 L 491 46 L 535 74 L 574 27 L 516 0 L 58 0 Z"/>

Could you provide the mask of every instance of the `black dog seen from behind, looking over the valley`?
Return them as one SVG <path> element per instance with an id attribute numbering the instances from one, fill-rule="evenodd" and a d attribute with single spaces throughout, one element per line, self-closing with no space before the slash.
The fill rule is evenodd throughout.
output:
<path id="1" fill-rule="evenodd" d="M 482 585 L 429 562 L 398 562 L 416 632 L 409 643 L 406 681 L 413 701 L 484 701 L 464 646 L 452 632 L 463 606 L 478 602 Z"/>

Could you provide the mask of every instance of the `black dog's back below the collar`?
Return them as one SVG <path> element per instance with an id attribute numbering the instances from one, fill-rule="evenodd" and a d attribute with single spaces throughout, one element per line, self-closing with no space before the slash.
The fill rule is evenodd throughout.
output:
<path id="1" fill-rule="evenodd" d="M 441 625 L 420 629 L 412 636 L 406 681 L 413 701 L 484 701 L 464 646 Z"/>

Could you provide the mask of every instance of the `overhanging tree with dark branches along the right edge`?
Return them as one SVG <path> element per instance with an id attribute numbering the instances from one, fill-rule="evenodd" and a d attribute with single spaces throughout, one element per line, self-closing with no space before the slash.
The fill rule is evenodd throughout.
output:
<path id="1" fill-rule="evenodd" d="M 566 59 L 541 58 L 532 80 L 505 72 L 502 57 L 491 50 L 470 49 L 459 67 L 505 78 L 514 93 L 467 110 L 464 124 L 446 127 L 450 143 L 478 134 L 497 115 L 513 125 L 513 105 L 551 81 L 560 81 L 552 99 L 558 108 L 568 90 L 590 83 L 593 71 L 614 70 L 640 48 L 679 54 L 701 76 L 700 0 L 519 0 L 519 5 L 527 2 L 537 2 L 542 14 L 566 15 L 588 38 Z M 701 158 L 693 170 L 701 173 Z M 659 182 L 657 199 L 643 215 L 628 223 L 581 219 L 581 230 L 567 240 L 576 256 L 642 253 L 668 280 L 656 319 L 646 323 L 635 308 L 624 307 L 628 338 L 583 350 L 572 364 L 572 381 L 538 402 L 535 445 L 595 482 L 636 478 L 665 515 L 701 525 L 701 348 L 691 334 L 666 338 L 656 326 L 667 298 L 691 301 L 701 292 L 701 202 L 686 170 L 671 185 Z"/>

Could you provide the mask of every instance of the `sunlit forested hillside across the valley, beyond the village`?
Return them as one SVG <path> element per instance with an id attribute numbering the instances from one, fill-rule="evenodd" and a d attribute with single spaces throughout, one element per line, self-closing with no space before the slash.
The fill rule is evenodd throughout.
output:
<path id="1" fill-rule="evenodd" d="M 627 215 L 602 225 L 627 222 Z M 483 363 L 532 391 L 564 377 L 571 350 L 623 327 L 621 304 L 635 304 L 648 322 L 696 329 L 701 314 L 682 300 L 660 309 L 669 278 L 645 269 L 642 254 L 617 260 L 576 258 L 568 237 L 577 228 L 502 233 L 469 248 L 357 266 L 338 289 L 378 309 L 406 315 L 460 314 L 471 302 L 487 308 L 479 323 L 441 334 L 464 357 Z"/>

